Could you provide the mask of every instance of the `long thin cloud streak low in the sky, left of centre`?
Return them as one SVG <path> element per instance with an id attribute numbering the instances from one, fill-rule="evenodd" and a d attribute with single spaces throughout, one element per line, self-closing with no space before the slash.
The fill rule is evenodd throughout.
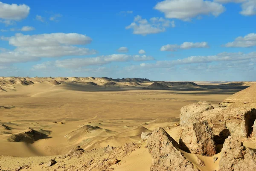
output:
<path id="1" fill-rule="evenodd" d="M 125 55 L 125 54 L 113 54 L 106 56 L 98 56 L 93 58 L 71 58 L 65 60 L 56 61 L 56 66 L 61 68 L 81 68 L 89 65 L 103 65 L 111 62 L 122 61 L 148 61 L 154 60 L 153 57 L 146 55 Z"/>

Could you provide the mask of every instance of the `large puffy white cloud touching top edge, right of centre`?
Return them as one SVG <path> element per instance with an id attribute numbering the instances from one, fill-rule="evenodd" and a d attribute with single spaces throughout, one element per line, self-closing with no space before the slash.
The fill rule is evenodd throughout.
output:
<path id="1" fill-rule="evenodd" d="M 166 18 L 184 21 L 199 15 L 212 14 L 217 17 L 225 11 L 225 7 L 221 4 L 208 0 L 164 0 L 157 3 L 154 9 L 163 12 Z"/>

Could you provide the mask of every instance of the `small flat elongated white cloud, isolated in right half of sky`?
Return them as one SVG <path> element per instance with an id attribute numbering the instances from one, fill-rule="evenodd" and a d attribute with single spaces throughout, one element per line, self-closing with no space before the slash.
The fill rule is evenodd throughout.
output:
<path id="1" fill-rule="evenodd" d="M 181 45 L 167 44 L 161 47 L 161 51 L 176 51 L 177 49 L 191 49 L 191 48 L 207 48 L 207 42 L 184 42 Z"/>

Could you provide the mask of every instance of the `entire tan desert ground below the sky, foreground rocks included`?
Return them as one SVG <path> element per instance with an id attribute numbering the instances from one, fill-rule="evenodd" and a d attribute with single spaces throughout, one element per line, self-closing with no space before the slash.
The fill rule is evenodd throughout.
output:
<path id="1" fill-rule="evenodd" d="M 230 135 L 246 149 L 232 165 L 256 166 L 254 82 L 1 77 L 0 90 L 1 171 L 231 171 Z"/>

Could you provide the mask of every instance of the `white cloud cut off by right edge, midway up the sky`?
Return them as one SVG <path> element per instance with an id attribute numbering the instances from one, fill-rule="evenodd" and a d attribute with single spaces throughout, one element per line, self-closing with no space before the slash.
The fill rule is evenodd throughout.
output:
<path id="1" fill-rule="evenodd" d="M 256 46 L 256 33 L 250 33 L 244 37 L 239 36 L 233 42 L 229 42 L 226 47 L 252 47 Z"/>

